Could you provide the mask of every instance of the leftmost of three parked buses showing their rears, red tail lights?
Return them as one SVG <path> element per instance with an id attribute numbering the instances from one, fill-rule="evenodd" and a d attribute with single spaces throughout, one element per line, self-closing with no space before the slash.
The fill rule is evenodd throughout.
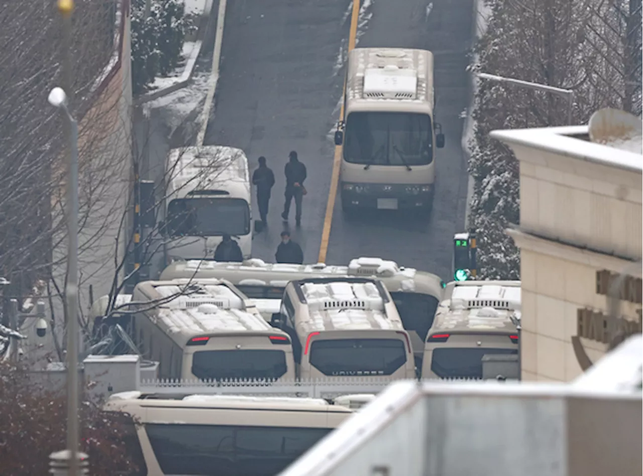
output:
<path id="1" fill-rule="evenodd" d="M 292 380 L 293 347 L 254 304 L 219 279 L 143 281 L 130 334 L 161 378 Z"/>

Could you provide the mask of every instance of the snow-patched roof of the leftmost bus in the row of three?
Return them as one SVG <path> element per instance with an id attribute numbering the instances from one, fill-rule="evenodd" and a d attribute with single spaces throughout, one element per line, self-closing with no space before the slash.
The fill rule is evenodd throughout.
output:
<path id="1" fill-rule="evenodd" d="M 176 297 L 163 301 L 172 296 Z M 213 333 L 279 333 L 244 298 L 231 283 L 219 279 L 144 281 L 134 288 L 136 302 L 161 300 L 150 312 L 157 313 L 156 324 L 174 339 L 187 341 Z"/>

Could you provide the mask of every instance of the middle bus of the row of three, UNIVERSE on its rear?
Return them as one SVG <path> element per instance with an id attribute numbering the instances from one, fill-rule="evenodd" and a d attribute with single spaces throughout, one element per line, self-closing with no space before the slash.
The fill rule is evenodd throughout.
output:
<path id="1" fill-rule="evenodd" d="M 299 378 L 416 377 L 411 340 L 379 279 L 291 281 L 279 324 L 293 341 Z"/>

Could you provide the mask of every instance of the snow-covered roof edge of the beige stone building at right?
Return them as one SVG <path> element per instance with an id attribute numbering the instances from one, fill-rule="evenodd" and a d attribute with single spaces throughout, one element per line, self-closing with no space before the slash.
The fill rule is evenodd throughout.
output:
<path id="1" fill-rule="evenodd" d="M 572 137 L 584 134 L 589 134 L 588 126 L 494 130 L 489 135 L 509 145 L 526 146 L 580 161 L 643 173 L 642 154 Z"/>

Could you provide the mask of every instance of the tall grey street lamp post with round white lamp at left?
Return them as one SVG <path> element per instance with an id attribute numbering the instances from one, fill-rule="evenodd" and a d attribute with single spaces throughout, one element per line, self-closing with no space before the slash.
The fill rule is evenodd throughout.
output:
<path id="1" fill-rule="evenodd" d="M 78 124 L 67 107 L 67 95 L 60 87 L 49 94 L 49 102 L 60 109 L 69 124 L 67 163 L 67 449 L 69 476 L 78 470 Z"/>

